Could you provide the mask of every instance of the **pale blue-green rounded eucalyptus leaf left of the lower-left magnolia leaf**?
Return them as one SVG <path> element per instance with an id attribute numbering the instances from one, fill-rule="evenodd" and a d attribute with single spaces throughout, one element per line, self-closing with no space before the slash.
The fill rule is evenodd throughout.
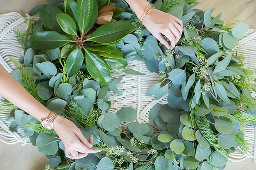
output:
<path id="1" fill-rule="evenodd" d="M 57 68 L 52 62 L 46 61 L 42 63 L 37 63 L 35 65 L 40 69 L 41 73 L 43 73 L 49 79 L 52 76 L 55 76 L 55 74 L 57 73 Z"/>

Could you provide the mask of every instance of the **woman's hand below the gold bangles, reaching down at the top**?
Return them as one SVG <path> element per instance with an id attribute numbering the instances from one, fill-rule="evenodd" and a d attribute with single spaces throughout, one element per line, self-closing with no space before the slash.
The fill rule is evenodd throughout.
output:
<path id="1" fill-rule="evenodd" d="M 153 9 L 147 15 L 143 25 L 167 48 L 175 46 L 180 40 L 183 30 L 182 20 L 158 9 Z M 170 43 L 163 38 L 163 35 Z"/>

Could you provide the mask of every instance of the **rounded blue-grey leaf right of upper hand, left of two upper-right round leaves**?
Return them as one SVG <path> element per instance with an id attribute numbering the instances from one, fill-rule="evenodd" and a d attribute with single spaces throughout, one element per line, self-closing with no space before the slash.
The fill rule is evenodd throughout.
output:
<path id="1" fill-rule="evenodd" d="M 218 44 L 212 38 L 208 38 L 208 37 L 204 38 L 202 42 L 203 42 L 202 48 L 204 48 L 208 56 L 212 56 L 213 54 L 218 52 L 219 50 Z"/>

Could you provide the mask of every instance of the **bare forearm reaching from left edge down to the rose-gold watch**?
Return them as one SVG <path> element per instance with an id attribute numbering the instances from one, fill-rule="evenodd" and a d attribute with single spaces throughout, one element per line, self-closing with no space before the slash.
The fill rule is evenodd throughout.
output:
<path id="1" fill-rule="evenodd" d="M 26 113 L 41 120 L 50 111 L 31 96 L 4 68 L 0 65 L 0 96 L 12 102 Z"/>

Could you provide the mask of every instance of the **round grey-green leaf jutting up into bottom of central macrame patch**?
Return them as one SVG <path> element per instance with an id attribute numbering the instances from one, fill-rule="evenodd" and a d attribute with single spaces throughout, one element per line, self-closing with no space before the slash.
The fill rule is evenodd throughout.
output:
<path id="1" fill-rule="evenodd" d="M 123 122 L 132 122 L 137 119 L 137 111 L 131 107 L 121 108 L 116 112 L 116 115 Z"/>

